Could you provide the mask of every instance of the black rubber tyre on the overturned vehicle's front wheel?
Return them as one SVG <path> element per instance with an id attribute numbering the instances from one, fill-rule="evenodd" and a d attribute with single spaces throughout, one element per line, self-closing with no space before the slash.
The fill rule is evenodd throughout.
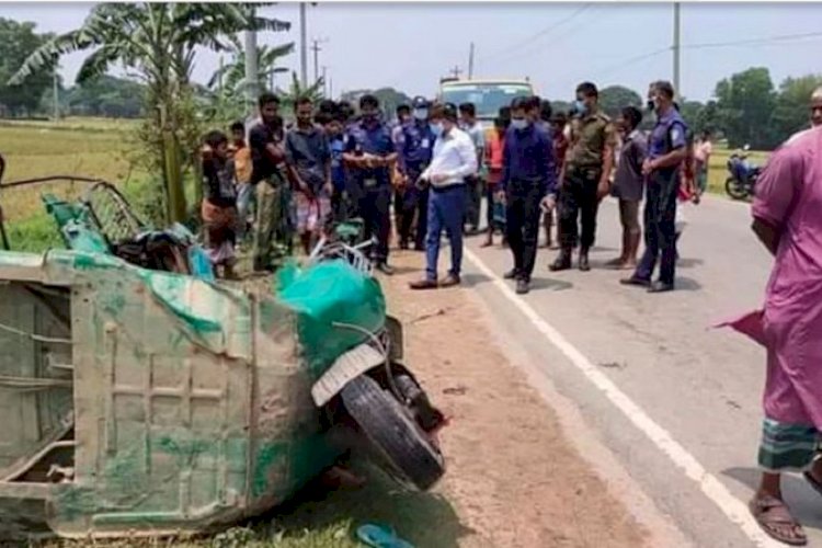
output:
<path id="1" fill-rule="evenodd" d="M 386 471 L 407 487 L 430 489 L 445 472 L 445 460 L 402 404 L 376 380 L 359 376 L 345 385 L 346 411 L 386 460 Z"/>

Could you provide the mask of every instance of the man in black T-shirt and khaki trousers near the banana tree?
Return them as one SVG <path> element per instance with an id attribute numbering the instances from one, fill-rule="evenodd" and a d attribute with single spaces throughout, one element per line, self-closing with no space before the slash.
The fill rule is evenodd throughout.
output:
<path id="1" fill-rule="evenodd" d="M 263 93 L 258 102 L 261 121 L 249 132 L 252 172 L 255 187 L 256 218 L 254 220 L 254 271 L 273 270 L 272 251 L 275 236 L 289 248 L 287 199 L 289 192 L 285 176 L 285 130 L 279 117 L 279 99 Z"/>

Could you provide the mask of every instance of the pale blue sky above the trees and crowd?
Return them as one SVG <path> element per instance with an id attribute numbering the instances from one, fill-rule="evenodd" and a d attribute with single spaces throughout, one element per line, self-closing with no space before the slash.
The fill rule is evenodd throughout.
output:
<path id="1" fill-rule="evenodd" d="M 91 3 L 0 3 L 0 16 L 34 21 L 39 31 L 77 27 Z M 288 33 L 267 33 L 261 43 L 299 39 L 298 7 L 283 3 L 264 13 L 293 23 Z M 770 70 L 775 84 L 788 76 L 822 72 L 822 36 L 706 47 L 820 32 L 822 3 L 682 4 L 682 93 L 706 100 L 716 82 L 751 66 Z M 642 92 L 648 82 L 672 78 L 671 3 L 320 3 L 308 8 L 308 36 L 328 38 L 320 65 L 335 93 L 392 85 L 431 95 L 454 66 L 467 69 L 476 44 L 476 77 L 529 77 L 550 99 L 570 99 L 582 80 L 620 83 Z M 541 33 L 541 34 L 540 34 Z M 701 47 L 692 47 L 696 45 Z M 83 54 L 62 60 L 68 81 Z M 636 59 L 632 62 L 631 59 Z M 195 79 L 206 81 L 218 57 L 204 52 Z M 284 65 L 298 69 L 295 53 Z M 309 76 L 313 73 L 309 53 Z M 284 78 L 281 76 L 281 78 Z"/>

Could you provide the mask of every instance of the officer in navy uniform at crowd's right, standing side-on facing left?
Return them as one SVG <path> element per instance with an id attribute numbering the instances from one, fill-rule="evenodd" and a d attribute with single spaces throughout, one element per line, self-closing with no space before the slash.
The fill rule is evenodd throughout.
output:
<path id="1" fill-rule="evenodd" d="M 680 169 L 687 155 L 687 126 L 674 107 L 671 82 L 651 84 L 648 109 L 657 113 L 657 125 L 651 132 L 648 156 L 642 164 L 646 176 L 646 251 L 633 275 L 623 279 L 623 284 L 648 287 L 649 293 L 663 293 L 674 288 L 676 198 Z M 658 259 L 660 277 L 651 283 Z"/>

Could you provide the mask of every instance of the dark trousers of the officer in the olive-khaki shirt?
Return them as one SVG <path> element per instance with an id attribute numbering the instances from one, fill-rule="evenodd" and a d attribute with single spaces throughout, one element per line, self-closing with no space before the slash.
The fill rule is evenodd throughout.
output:
<path id="1" fill-rule="evenodd" d="M 559 198 L 560 246 L 563 250 L 573 249 L 578 243 L 583 250 L 594 246 L 600 208 L 596 187 L 601 176 L 600 168 L 568 167 Z"/>

